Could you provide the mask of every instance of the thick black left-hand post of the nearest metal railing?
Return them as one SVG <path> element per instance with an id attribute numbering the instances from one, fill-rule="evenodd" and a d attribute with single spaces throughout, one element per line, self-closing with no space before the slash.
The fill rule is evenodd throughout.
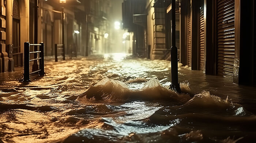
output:
<path id="1" fill-rule="evenodd" d="M 29 42 L 25 42 L 24 43 L 24 82 L 30 82 L 30 78 L 29 78 L 29 60 L 30 60 L 29 49 L 30 49 Z"/>

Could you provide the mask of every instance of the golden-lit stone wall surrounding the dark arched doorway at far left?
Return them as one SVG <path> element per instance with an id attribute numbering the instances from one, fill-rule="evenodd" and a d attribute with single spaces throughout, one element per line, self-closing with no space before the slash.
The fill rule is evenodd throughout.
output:
<path id="1" fill-rule="evenodd" d="M 24 52 L 24 43 L 29 41 L 29 0 L 18 0 L 20 15 L 20 52 Z M 1 45 L 0 72 L 13 71 L 12 53 L 7 49 L 12 44 L 12 12 L 13 0 L 1 0 Z M 6 15 L 7 14 L 7 15 Z M 6 40 L 7 39 L 7 40 Z M 6 48 L 8 47 L 8 48 Z M 9 54 L 8 54 L 9 53 Z M 24 56 L 24 55 L 23 55 Z M 10 60 L 9 60 L 10 57 Z M 22 57 L 23 59 L 23 57 Z M 9 69 L 10 67 L 10 69 Z"/>

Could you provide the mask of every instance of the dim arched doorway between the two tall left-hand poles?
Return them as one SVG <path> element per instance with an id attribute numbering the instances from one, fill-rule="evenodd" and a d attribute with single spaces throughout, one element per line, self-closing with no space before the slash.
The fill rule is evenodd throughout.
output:
<path id="1" fill-rule="evenodd" d="M 44 11 L 43 21 L 42 21 L 42 32 L 43 32 L 43 42 L 45 43 L 45 55 L 53 55 L 53 39 L 52 39 L 52 21 L 48 11 Z"/>

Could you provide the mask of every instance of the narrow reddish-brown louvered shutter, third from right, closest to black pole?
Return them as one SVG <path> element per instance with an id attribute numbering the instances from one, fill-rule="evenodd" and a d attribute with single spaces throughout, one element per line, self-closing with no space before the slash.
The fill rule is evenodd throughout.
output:
<path id="1" fill-rule="evenodd" d="M 188 26 L 187 27 L 188 28 L 187 63 L 188 63 L 188 66 L 191 67 L 191 14 L 190 12 L 188 13 L 187 26 Z"/>

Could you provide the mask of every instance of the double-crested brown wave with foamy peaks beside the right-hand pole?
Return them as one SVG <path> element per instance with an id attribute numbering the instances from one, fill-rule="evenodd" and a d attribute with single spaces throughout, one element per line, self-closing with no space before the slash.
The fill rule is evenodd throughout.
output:
<path id="1" fill-rule="evenodd" d="M 182 86 L 182 89 L 186 88 Z M 105 78 L 90 87 L 82 94 L 78 101 L 86 103 L 88 99 L 103 101 L 124 101 L 124 100 L 172 100 L 173 102 L 187 102 L 190 97 L 187 94 L 177 94 L 176 92 L 163 87 L 157 79 L 150 79 L 138 90 L 131 90 L 127 84 L 118 80 Z"/>

